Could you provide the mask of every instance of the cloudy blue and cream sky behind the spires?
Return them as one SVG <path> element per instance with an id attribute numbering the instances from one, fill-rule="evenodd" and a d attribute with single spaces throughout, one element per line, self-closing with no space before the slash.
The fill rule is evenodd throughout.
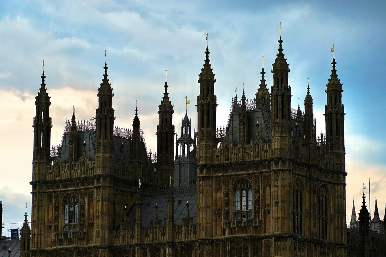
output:
<path id="1" fill-rule="evenodd" d="M 317 134 L 325 131 L 325 84 L 332 53 L 343 83 L 347 175 L 347 222 L 352 200 L 359 213 L 362 183 L 371 179 L 371 212 L 378 196 L 381 218 L 386 200 L 386 3 L 373 1 L 225 0 L 13 0 L 0 5 L 0 198 L 4 223 L 24 220 L 31 208 L 32 119 L 40 88 L 42 60 L 51 97 L 52 145 L 61 142 L 73 106 L 77 120 L 95 115 L 97 88 L 107 50 L 114 88 L 115 124 L 131 128 L 138 100 L 148 150 L 156 149 L 158 105 L 165 69 L 179 131 L 185 96 L 195 110 L 198 73 L 209 34 L 216 73 L 217 125 L 226 126 L 235 87 L 243 83 L 253 98 L 260 83 L 262 55 L 267 85 L 272 85 L 282 23 L 285 57 L 290 64 L 292 106 L 301 108 L 307 77 L 314 99 Z M 153 151 L 154 152 L 154 151 Z M 368 190 L 368 185 L 366 192 Z M 366 198 L 368 201 L 368 198 Z M 15 225 L 17 227 L 17 225 Z"/>

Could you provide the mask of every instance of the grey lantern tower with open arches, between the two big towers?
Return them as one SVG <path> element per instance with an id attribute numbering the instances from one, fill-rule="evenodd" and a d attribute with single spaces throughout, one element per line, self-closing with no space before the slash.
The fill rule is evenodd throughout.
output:
<path id="1" fill-rule="evenodd" d="M 188 186 L 196 180 L 196 142 L 192 138 L 191 120 L 187 110 L 182 119 L 181 137 L 175 143 L 175 186 Z"/>

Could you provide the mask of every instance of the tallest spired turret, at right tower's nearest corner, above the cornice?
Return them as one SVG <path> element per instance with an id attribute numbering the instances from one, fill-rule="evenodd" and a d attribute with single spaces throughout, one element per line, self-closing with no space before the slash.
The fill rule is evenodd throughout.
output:
<path id="1" fill-rule="evenodd" d="M 284 58 L 281 35 L 275 62 L 272 64 L 273 86 L 271 87 L 272 149 L 274 156 L 286 156 L 291 142 L 291 86 L 288 85 L 290 72 Z"/>

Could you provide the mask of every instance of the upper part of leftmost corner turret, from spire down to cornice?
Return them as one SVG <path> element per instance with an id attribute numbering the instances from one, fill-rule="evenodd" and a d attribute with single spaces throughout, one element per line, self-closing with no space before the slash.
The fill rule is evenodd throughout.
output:
<path id="1" fill-rule="evenodd" d="M 43 164 L 48 165 L 51 162 L 50 148 L 51 148 L 51 128 L 52 120 L 50 117 L 50 97 L 45 85 L 44 75 L 44 61 L 43 61 L 43 75 L 41 76 L 40 91 L 37 93 L 35 106 L 36 115 L 33 120 L 32 127 L 34 128 L 34 154 L 33 154 L 33 180 L 44 179 L 44 170 L 39 170 Z M 40 165 L 37 163 L 41 163 Z"/>

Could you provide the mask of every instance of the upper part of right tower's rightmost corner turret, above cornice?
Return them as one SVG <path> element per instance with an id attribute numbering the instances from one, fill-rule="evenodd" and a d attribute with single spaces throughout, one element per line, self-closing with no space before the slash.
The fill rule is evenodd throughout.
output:
<path id="1" fill-rule="evenodd" d="M 327 104 L 325 105 L 326 145 L 334 156 L 334 170 L 345 171 L 345 110 L 342 104 L 342 84 L 336 73 L 335 57 L 332 59 L 331 75 L 326 84 Z"/>

